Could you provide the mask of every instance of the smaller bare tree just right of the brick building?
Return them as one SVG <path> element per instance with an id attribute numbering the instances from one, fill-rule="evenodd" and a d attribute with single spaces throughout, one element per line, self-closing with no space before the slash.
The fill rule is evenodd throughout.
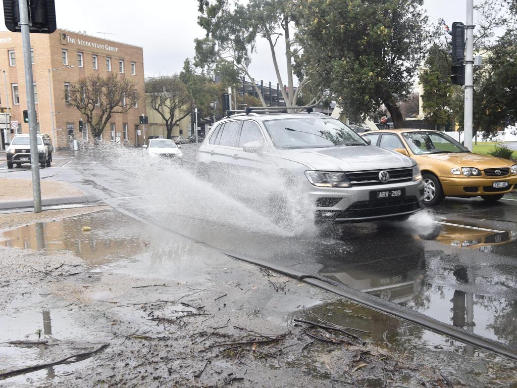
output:
<path id="1" fill-rule="evenodd" d="M 192 97 L 178 74 L 150 78 L 145 82 L 145 93 L 151 99 L 151 108 L 158 112 L 165 122 L 167 139 L 173 128 L 190 114 Z"/>

